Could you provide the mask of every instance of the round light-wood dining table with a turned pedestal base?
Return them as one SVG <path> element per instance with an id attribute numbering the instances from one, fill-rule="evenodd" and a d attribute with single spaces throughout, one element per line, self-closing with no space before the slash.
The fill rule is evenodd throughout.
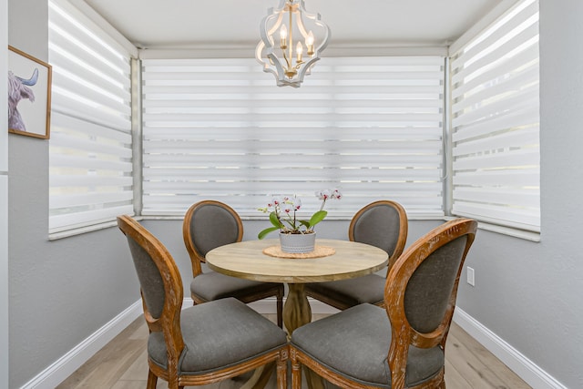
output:
<path id="1" fill-rule="evenodd" d="M 312 309 L 304 292 L 306 282 L 328 282 L 362 277 L 386 267 L 388 254 L 374 246 L 355 241 L 316 240 L 316 251 L 333 252 L 318 258 L 280 258 L 266 254 L 279 240 L 241 241 L 209 251 L 210 269 L 233 277 L 261 282 L 286 282 L 289 292 L 283 305 L 283 322 L 292 334 L 312 321 Z M 331 250 L 332 249 L 332 250 Z M 306 374 L 311 388 L 322 387 L 322 380 Z"/>

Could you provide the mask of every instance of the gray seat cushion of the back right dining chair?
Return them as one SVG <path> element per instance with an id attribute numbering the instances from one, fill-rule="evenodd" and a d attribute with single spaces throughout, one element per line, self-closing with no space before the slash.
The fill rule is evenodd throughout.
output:
<path id="1" fill-rule="evenodd" d="M 306 289 L 331 296 L 348 306 L 354 306 L 363 302 L 371 304 L 383 302 L 385 282 L 386 279 L 378 274 L 368 274 L 348 280 L 308 283 Z"/>

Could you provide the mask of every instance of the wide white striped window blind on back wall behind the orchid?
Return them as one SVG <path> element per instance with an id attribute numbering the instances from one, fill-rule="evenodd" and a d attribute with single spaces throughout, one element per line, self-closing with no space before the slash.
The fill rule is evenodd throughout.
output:
<path id="1" fill-rule="evenodd" d="M 322 58 L 292 90 L 252 59 L 145 59 L 142 214 L 214 199 L 249 217 L 277 194 L 314 210 L 338 188 L 331 216 L 379 199 L 443 216 L 444 64 Z"/>

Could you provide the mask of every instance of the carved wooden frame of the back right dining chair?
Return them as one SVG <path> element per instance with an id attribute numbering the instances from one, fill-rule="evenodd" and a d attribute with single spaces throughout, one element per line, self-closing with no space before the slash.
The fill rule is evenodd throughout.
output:
<path id="1" fill-rule="evenodd" d="M 371 210 L 375 207 L 383 206 L 383 205 L 389 206 L 397 211 L 397 213 L 399 214 L 399 226 L 400 226 L 399 236 L 398 236 L 397 242 L 394 246 L 394 251 L 392 253 L 391 252 L 388 253 L 389 254 L 389 261 L 387 263 L 387 271 L 386 271 L 386 275 L 388 276 L 389 271 L 391 270 L 391 268 L 394 265 L 394 261 L 396 261 L 397 258 L 399 258 L 399 256 L 403 253 L 404 246 L 407 242 L 407 233 L 408 233 L 409 224 L 408 224 L 408 220 L 407 220 L 407 212 L 404 210 L 404 208 L 401 204 L 399 204 L 396 201 L 392 201 L 392 200 L 377 200 L 377 201 L 373 201 L 372 203 L 364 206 L 361 210 L 358 210 L 358 212 L 356 212 L 354 214 L 353 219 L 350 222 L 350 225 L 348 227 L 348 239 L 350 241 L 355 241 L 355 238 L 354 238 L 355 232 L 354 231 L 356 230 L 356 223 L 358 222 L 360 217 L 365 212 L 367 212 L 368 210 Z M 340 302 L 340 301 L 333 299 L 328 294 L 324 294 L 320 291 L 314 291 L 309 287 L 306 288 L 306 295 L 309 297 L 312 297 L 313 299 L 316 299 L 316 300 L 324 302 L 328 305 L 331 305 L 332 307 L 339 309 L 341 311 L 346 310 L 346 309 L 351 307 L 350 305 L 347 305 L 343 302 Z M 383 307 L 384 301 L 378 302 L 378 303 L 376 303 L 376 305 Z"/>

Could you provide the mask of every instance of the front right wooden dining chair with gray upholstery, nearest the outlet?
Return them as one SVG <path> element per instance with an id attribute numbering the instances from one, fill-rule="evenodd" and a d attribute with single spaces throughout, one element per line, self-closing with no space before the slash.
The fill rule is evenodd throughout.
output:
<path id="1" fill-rule="evenodd" d="M 292 333 L 301 365 L 343 388 L 445 388 L 445 340 L 476 220 L 451 220 L 415 241 L 389 271 L 384 308 L 361 304 Z"/>

